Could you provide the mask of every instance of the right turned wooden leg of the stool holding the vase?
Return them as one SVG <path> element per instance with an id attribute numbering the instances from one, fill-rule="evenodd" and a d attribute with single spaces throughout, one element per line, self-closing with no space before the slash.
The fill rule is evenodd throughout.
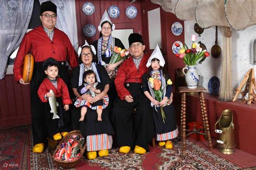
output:
<path id="1" fill-rule="evenodd" d="M 201 92 L 200 93 L 200 97 L 201 97 L 201 102 L 200 105 L 203 106 L 203 112 L 202 113 L 202 117 L 204 117 L 204 127 L 206 127 L 206 134 L 207 134 L 207 140 L 209 143 L 209 146 L 212 150 L 212 139 L 211 139 L 211 133 L 210 133 L 210 126 L 208 123 L 208 117 L 207 117 L 207 111 L 206 111 L 206 105 L 205 105 L 205 98 L 204 98 L 204 93 Z"/>

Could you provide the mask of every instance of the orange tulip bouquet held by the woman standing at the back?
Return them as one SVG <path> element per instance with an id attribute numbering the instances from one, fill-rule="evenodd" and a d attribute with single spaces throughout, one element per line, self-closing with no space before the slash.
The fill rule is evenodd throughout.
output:
<path id="1" fill-rule="evenodd" d="M 119 62 L 119 60 L 121 59 L 125 59 L 130 55 L 130 51 L 127 49 L 121 49 L 118 46 L 114 46 L 114 51 L 113 54 L 110 58 L 110 62 L 109 64 L 114 64 Z M 104 65 L 105 67 L 107 67 L 108 64 Z M 107 72 L 109 74 L 109 77 L 114 80 L 114 78 L 116 78 L 117 76 L 117 71 L 118 71 L 118 67 L 116 67 L 114 70 Z"/>

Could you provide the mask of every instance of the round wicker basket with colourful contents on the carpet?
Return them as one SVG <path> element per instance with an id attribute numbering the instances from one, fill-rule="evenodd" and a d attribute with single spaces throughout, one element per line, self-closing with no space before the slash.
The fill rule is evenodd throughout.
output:
<path id="1" fill-rule="evenodd" d="M 83 158 L 86 145 L 80 131 L 71 131 L 59 142 L 52 157 L 58 167 L 74 168 Z"/>

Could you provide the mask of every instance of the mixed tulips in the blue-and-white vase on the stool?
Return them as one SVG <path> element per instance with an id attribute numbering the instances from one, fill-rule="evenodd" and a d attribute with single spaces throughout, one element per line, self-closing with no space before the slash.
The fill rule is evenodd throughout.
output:
<path id="1" fill-rule="evenodd" d="M 210 56 L 210 53 L 208 53 L 206 50 L 202 51 L 199 43 L 195 43 L 196 35 L 192 35 L 191 41 L 191 49 L 189 49 L 188 46 L 185 44 L 175 55 L 176 57 L 182 58 L 185 65 L 197 65 L 203 57 Z M 180 46 L 178 43 L 175 43 L 174 45 L 177 47 Z"/>

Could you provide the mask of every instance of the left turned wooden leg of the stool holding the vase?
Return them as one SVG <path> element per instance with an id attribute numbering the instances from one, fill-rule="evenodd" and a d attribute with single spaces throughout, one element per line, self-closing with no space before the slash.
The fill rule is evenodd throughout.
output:
<path id="1" fill-rule="evenodd" d="M 180 119 L 180 123 L 181 123 L 181 139 L 182 139 L 182 147 L 183 147 L 183 151 L 186 150 L 186 93 L 182 94 L 182 103 L 181 103 L 181 119 Z"/>

